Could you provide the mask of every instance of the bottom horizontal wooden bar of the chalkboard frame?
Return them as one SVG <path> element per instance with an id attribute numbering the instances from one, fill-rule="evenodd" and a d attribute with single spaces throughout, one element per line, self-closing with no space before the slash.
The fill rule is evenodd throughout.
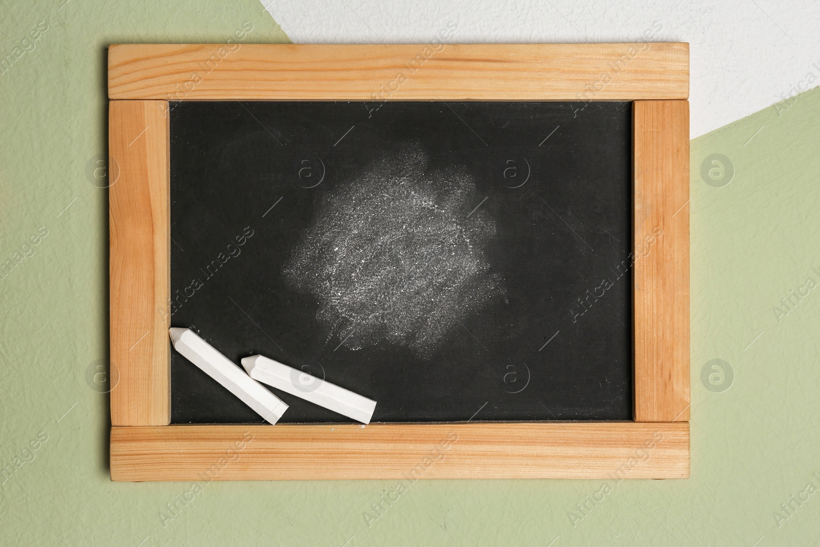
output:
<path id="1" fill-rule="evenodd" d="M 689 423 L 113 427 L 112 481 L 686 478 Z"/>

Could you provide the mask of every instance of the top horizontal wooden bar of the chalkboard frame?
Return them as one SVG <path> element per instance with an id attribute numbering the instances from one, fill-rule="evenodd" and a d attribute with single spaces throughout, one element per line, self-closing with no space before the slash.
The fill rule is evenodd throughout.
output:
<path id="1" fill-rule="evenodd" d="M 688 96 L 688 43 L 108 48 L 112 99 L 613 101 Z"/>

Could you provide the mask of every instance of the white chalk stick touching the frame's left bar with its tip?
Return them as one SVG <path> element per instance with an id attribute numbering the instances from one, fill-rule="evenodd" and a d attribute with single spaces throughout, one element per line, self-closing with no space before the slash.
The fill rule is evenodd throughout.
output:
<path id="1" fill-rule="evenodd" d="M 252 380 L 229 358 L 199 338 L 193 330 L 171 328 L 168 333 L 176 351 L 253 408 L 266 422 L 275 424 L 288 409 L 287 404 L 262 384 Z"/>

